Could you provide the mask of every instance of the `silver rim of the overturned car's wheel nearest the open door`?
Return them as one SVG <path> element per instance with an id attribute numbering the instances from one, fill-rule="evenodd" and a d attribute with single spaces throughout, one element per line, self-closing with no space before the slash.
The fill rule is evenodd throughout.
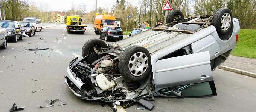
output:
<path id="1" fill-rule="evenodd" d="M 134 53 L 128 64 L 129 71 L 134 76 L 144 74 L 148 68 L 148 56 L 145 53 Z"/>

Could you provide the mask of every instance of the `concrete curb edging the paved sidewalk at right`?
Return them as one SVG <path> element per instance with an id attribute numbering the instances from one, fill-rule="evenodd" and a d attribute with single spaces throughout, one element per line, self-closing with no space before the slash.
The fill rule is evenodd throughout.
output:
<path id="1" fill-rule="evenodd" d="M 241 69 L 231 68 L 231 67 L 223 66 L 223 65 L 219 66 L 219 69 L 224 69 L 226 71 L 235 72 L 237 74 L 246 75 L 246 76 L 249 76 L 249 77 L 256 78 L 256 73 L 243 71 Z"/>

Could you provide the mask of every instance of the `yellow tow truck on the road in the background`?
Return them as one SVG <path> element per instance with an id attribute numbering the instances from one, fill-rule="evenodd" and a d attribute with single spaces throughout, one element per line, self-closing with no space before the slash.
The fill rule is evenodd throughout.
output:
<path id="1" fill-rule="evenodd" d="M 78 15 L 68 15 L 66 17 L 67 33 L 80 33 L 84 34 L 86 25 L 82 25 L 82 19 Z"/>

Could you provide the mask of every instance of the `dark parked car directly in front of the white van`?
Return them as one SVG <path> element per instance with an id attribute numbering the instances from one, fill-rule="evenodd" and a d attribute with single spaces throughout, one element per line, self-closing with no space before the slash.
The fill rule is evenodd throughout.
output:
<path id="1" fill-rule="evenodd" d="M 29 35 L 29 37 L 35 35 L 35 26 L 31 25 L 30 22 L 20 22 L 20 25 L 22 29 L 26 30 L 26 34 Z"/>

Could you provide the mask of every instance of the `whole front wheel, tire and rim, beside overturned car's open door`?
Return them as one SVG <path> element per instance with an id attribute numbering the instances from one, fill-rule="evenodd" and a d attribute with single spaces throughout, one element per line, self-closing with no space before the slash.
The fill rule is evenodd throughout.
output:
<path id="1" fill-rule="evenodd" d="M 121 75 L 130 81 L 140 81 L 151 72 L 149 51 L 142 46 L 131 46 L 120 55 L 118 63 Z"/>

